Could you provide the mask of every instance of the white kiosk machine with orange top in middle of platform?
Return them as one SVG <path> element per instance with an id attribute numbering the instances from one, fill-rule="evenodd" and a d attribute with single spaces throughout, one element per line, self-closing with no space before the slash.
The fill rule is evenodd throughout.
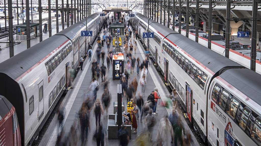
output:
<path id="1" fill-rule="evenodd" d="M 124 72 L 124 56 L 123 54 L 113 55 L 112 57 L 112 80 L 121 78 Z"/>

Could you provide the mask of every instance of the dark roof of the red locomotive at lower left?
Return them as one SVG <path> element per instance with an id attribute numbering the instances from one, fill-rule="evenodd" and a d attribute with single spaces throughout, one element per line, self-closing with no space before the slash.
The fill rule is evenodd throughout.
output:
<path id="1" fill-rule="evenodd" d="M 0 120 L 8 114 L 13 105 L 2 95 L 0 95 Z"/>

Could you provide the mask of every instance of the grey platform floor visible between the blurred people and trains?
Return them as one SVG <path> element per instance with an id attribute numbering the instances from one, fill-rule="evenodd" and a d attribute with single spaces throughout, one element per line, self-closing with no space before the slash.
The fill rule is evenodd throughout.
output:
<path id="1" fill-rule="evenodd" d="M 100 36 L 102 36 L 102 35 L 103 34 L 100 34 Z M 132 41 L 134 41 L 134 40 L 132 40 Z M 136 59 L 139 57 L 142 61 L 145 59 L 145 52 L 144 52 L 144 49 L 142 48 L 141 43 L 138 40 L 136 42 L 137 42 L 137 52 L 135 53 L 133 51 L 133 55 L 136 57 Z M 97 42 L 95 42 L 93 44 L 93 52 L 95 52 L 95 53 L 92 54 L 91 62 L 93 62 L 93 59 L 96 59 L 97 47 L 98 47 Z M 106 55 L 108 55 L 106 45 L 102 49 L 104 50 L 104 52 L 106 52 Z M 113 47 L 111 46 L 110 49 L 113 49 Z M 124 57 L 124 59 L 125 59 L 124 62 L 126 62 L 126 57 Z M 69 91 L 67 92 L 67 95 L 65 96 L 65 98 L 63 99 L 63 102 L 61 103 L 60 108 L 61 107 L 64 108 L 64 110 L 63 110 L 64 120 L 62 123 L 62 128 L 63 128 L 65 135 L 68 135 L 68 133 L 70 131 L 70 127 L 73 125 L 73 123 L 75 121 L 78 122 L 78 120 L 79 120 L 78 111 L 81 108 L 82 102 L 86 99 L 84 94 L 86 91 L 88 91 L 88 88 L 90 86 L 91 79 L 92 79 L 91 78 L 91 62 L 89 62 L 88 59 L 85 60 L 84 65 L 83 65 L 83 70 L 79 71 L 78 75 L 76 76 L 76 78 L 74 80 L 74 88 L 69 89 Z M 101 62 L 102 61 L 100 61 L 100 65 L 102 65 Z M 151 62 L 150 62 L 150 64 L 151 64 Z M 107 65 L 105 65 L 105 66 L 107 67 Z M 107 124 L 108 124 L 107 115 L 113 114 L 113 109 L 114 109 L 113 102 L 117 101 L 117 84 L 120 84 L 119 80 L 112 81 L 112 65 L 110 65 L 110 70 L 106 71 L 106 75 L 107 75 L 107 79 L 110 80 L 109 91 L 111 94 L 111 101 L 110 101 L 108 113 L 105 112 L 104 115 L 101 116 L 101 123 L 103 124 L 103 128 L 105 128 L 105 129 L 107 129 Z M 134 76 L 137 76 L 137 80 L 140 78 L 140 76 L 137 75 L 136 72 L 134 72 L 134 74 L 132 76 L 130 75 L 130 77 L 129 77 L 129 83 L 133 80 Z M 100 85 L 102 85 L 101 79 L 99 79 L 99 83 L 100 83 Z M 158 75 L 157 70 L 154 68 L 153 65 L 150 65 L 149 69 L 148 69 L 144 101 L 147 100 L 147 97 L 150 95 L 151 91 L 153 91 L 155 87 L 158 88 L 159 95 L 162 98 L 161 100 L 165 100 L 166 97 L 169 96 L 169 92 L 168 92 L 167 88 L 165 87 L 164 82 L 161 80 L 160 76 Z M 141 92 L 140 85 L 138 85 L 137 92 Z M 103 94 L 103 87 L 100 87 L 100 89 L 97 92 L 97 99 L 101 99 L 102 94 Z M 125 111 L 127 111 L 127 109 L 126 109 L 127 101 L 125 98 L 122 98 L 122 101 L 125 104 Z M 162 106 L 158 106 L 158 108 L 159 108 L 158 115 L 155 115 L 156 119 L 157 119 L 157 124 L 153 128 L 153 134 L 152 134 L 153 142 L 150 142 L 149 145 L 153 145 L 156 141 L 159 120 L 162 117 L 171 114 L 171 109 L 166 109 L 165 107 L 162 107 Z M 51 121 L 51 124 L 49 125 L 49 128 L 46 130 L 39 145 L 48 145 L 48 146 L 56 145 L 57 136 L 61 132 L 61 129 L 62 129 L 61 127 L 58 126 L 57 116 L 58 116 L 57 114 L 54 116 L 53 120 Z M 185 119 L 183 118 L 182 115 L 180 117 L 181 117 L 182 123 L 184 124 L 185 128 L 192 135 L 192 145 L 199 146 L 199 143 L 197 142 L 197 140 L 195 139 L 191 130 L 189 129 L 188 125 L 186 124 Z M 144 131 L 143 123 L 141 123 L 140 120 L 137 120 L 137 123 L 138 123 L 137 133 L 132 133 L 132 139 L 130 140 L 129 145 L 135 145 L 135 138 L 139 134 L 141 134 L 141 132 Z M 88 141 L 86 142 L 85 145 L 96 145 L 96 141 L 93 140 L 93 135 L 94 135 L 95 130 L 96 130 L 95 117 L 94 117 L 94 111 L 92 110 L 91 114 L 90 114 L 90 129 L 89 129 L 89 134 L 88 134 L 88 138 L 87 138 Z M 79 129 L 79 134 L 80 134 L 80 129 Z M 79 141 L 78 141 L 77 145 L 81 145 L 80 135 L 78 138 L 79 138 Z M 107 135 L 105 137 L 105 143 L 106 143 L 105 145 L 118 146 L 119 140 L 108 140 L 108 131 L 107 131 Z"/>

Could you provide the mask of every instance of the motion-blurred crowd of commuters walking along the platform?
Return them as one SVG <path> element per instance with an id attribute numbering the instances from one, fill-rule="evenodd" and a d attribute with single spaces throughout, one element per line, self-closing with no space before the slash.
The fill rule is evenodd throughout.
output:
<path id="1" fill-rule="evenodd" d="M 125 19 L 122 19 L 121 22 L 123 22 L 123 20 L 125 22 Z M 95 51 L 95 59 L 92 58 L 94 53 L 92 46 L 88 48 L 88 61 L 91 62 L 93 60 L 91 62 L 90 86 L 84 94 L 84 102 L 76 115 L 77 118 L 75 118 L 73 125 L 70 127 L 69 134 L 66 135 L 64 130 L 62 130 L 57 138 L 57 145 L 77 145 L 78 143 L 87 145 L 90 131 L 94 131 L 92 137 L 95 139 L 97 146 L 106 145 L 105 137 L 107 130 L 104 128 L 106 126 L 103 125 L 103 123 L 105 122 L 104 118 L 109 114 L 108 108 L 111 102 L 107 71 L 112 68 L 112 57 L 115 55 L 114 50 L 110 49 L 112 37 L 109 31 L 107 31 L 111 23 L 113 23 L 113 21 L 109 22 L 109 25 L 108 23 L 103 25 L 103 35 L 97 39 L 98 47 Z M 164 102 L 161 101 L 158 88 L 154 88 L 149 95 L 146 95 L 147 76 L 149 74 L 148 68 L 150 67 L 149 59 L 146 57 L 144 60 L 141 60 L 139 57 L 135 57 L 135 55 L 137 55 L 138 32 L 132 32 L 127 22 L 124 27 L 126 35 L 123 40 L 123 53 L 124 56 L 126 56 L 126 60 L 124 60 L 126 66 L 124 67 L 125 70 L 120 79 L 120 83 L 122 85 L 123 100 L 127 101 L 127 103 L 132 102 L 133 109 L 131 109 L 130 113 L 123 112 L 123 122 L 124 124 L 132 124 L 132 133 L 134 134 L 138 132 L 138 129 L 143 129 L 139 130 L 141 132 L 138 132 L 139 135 L 134 139 L 135 142 L 133 145 L 151 145 L 149 142 L 152 141 L 153 144 L 157 146 L 190 145 L 191 136 L 184 128 L 181 122 L 182 114 L 177 108 L 178 94 L 176 90 L 174 89 L 173 92 L 165 98 Z M 81 70 L 83 62 L 84 59 L 81 57 Z M 73 88 L 73 78 L 74 74 L 70 72 L 71 88 Z M 100 98 L 97 98 L 98 91 L 103 92 Z M 172 113 L 169 116 L 158 115 L 158 105 L 172 109 Z M 64 119 L 63 110 L 58 110 L 57 113 L 59 126 L 62 126 Z M 91 118 L 95 119 L 96 127 L 90 126 Z M 153 135 L 153 130 L 157 130 L 156 135 Z M 129 135 L 130 133 L 128 133 L 126 126 L 122 126 L 118 131 L 120 145 L 130 145 Z"/>

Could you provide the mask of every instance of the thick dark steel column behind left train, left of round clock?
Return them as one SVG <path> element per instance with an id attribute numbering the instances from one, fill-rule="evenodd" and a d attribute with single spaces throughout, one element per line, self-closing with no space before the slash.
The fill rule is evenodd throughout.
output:
<path id="1" fill-rule="evenodd" d="M 9 55 L 14 56 L 14 36 L 13 36 L 13 12 L 12 0 L 8 0 L 8 26 L 9 26 Z M 11 65 L 11 64 L 10 64 Z"/>

